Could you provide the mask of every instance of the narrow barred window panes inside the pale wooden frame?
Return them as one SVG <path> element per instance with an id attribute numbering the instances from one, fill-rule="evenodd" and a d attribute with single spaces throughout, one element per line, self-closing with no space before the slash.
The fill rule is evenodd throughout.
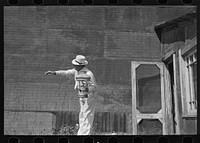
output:
<path id="1" fill-rule="evenodd" d="M 188 112 L 193 112 L 197 110 L 197 53 L 192 52 L 185 57 L 186 65 L 186 76 L 188 88 L 187 97 L 188 102 Z"/>

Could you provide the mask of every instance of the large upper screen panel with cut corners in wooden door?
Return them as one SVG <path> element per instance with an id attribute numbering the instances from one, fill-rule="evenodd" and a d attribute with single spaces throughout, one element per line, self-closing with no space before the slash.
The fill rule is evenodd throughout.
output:
<path id="1" fill-rule="evenodd" d="M 141 113 L 157 113 L 161 109 L 160 69 L 156 65 L 136 68 L 136 106 Z"/>

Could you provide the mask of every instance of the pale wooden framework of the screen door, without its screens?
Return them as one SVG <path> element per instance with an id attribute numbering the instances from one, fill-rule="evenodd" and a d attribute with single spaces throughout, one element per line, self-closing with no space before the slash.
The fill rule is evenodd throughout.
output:
<path id="1" fill-rule="evenodd" d="M 136 109 L 136 68 L 141 64 L 156 65 L 160 69 L 161 78 L 161 110 L 153 114 L 139 113 Z M 137 135 L 137 124 L 142 119 L 158 119 L 162 123 L 162 133 L 167 134 L 167 124 L 165 118 L 165 97 L 164 97 L 164 64 L 162 62 L 142 62 L 131 61 L 131 82 L 132 82 L 132 128 L 133 135 Z"/>

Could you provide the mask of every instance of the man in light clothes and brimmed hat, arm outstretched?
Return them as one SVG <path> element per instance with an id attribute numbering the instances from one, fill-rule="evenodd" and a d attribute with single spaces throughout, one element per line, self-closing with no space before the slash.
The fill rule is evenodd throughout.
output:
<path id="1" fill-rule="evenodd" d="M 73 75 L 75 80 L 74 89 L 78 90 L 78 82 L 76 81 L 76 76 L 80 72 L 85 72 L 90 76 L 89 82 L 89 95 L 88 98 L 80 98 L 80 113 L 79 113 L 79 130 L 77 135 L 90 135 L 92 124 L 94 121 L 95 113 L 95 103 L 96 103 L 96 81 L 93 73 L 85 68 L 85 65 L 88 64 L 87 60 L 82 55 L 77 55 L 74 60 L 72 60 L 74 65 L 73 69 L 69 70 L 58 70 L 58 71 L 47 71 L 45 75 L 61 75 L 69 76 Z"/>

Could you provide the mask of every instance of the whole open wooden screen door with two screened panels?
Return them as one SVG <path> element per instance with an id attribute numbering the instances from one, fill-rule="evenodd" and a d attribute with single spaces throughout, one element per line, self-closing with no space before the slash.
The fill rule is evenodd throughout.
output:
<path id="1" fill-rule="evenodd" d="M 134 135 L 169 134 L 164 96 L 164 64 L 131 63 Z"/>

